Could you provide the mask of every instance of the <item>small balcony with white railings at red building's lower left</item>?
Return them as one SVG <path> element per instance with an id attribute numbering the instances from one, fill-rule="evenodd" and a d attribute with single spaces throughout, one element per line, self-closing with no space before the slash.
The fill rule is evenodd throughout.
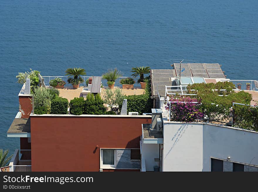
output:
<path id="1" fill-rule="evenodd" d="M 31 150 L 16 149 L 11 162 L 10 172 L 31 172 Z"/>

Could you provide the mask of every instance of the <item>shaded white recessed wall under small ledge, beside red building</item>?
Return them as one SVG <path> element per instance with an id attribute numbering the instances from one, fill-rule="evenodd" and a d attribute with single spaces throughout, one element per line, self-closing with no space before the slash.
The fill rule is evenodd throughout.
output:
<path id="1" fill-rule="evenodd" d="M 153 167 L 157 165 L 154 158 L 159 158 L 159 144 L 142 143 L 142 159 L 145 159 L 146 171 L 154 171 Z"/>

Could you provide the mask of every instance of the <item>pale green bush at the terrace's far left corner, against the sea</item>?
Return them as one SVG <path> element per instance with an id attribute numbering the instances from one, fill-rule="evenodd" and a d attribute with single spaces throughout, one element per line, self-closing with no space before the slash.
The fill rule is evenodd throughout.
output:
<path id="1" fill-rule="evenodd" d="M 39 84 L 39 78 L 38 78 L 38 74 L 40 72 L 36 71 L 36 70 L 32 70 L 30 69 L 30 71 L 26 71 L 26 72 L 19 72 L 18 75 L 16 76 L 16 78 L 18 78 L 18 83 L 20 84 L 24 84 L 26 82 L 26 79 L 30 79 L 30 85 L 38 85 Z"/>

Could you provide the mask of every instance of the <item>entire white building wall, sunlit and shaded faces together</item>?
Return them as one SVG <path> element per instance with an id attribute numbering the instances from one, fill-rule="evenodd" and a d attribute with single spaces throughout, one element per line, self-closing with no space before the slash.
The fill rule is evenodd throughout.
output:
<path id="1" fill-rule="evenodd" d="M 210 171 L 210 158 L 258 165 L 258 133 L 208 123 L 164 121 L 163 171 Z"/>

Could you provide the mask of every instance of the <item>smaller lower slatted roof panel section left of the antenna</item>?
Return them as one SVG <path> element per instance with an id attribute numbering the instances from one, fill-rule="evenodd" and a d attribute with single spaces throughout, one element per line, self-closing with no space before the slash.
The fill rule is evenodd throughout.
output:
<path id="1" fill-rule="evenodd" d="M 151 70 L 151 86 L 152 95 L 164 96 L 165 86 L 172 86 L 171 77 L 176 77 L 174 69 L 152 69 Z"/>

